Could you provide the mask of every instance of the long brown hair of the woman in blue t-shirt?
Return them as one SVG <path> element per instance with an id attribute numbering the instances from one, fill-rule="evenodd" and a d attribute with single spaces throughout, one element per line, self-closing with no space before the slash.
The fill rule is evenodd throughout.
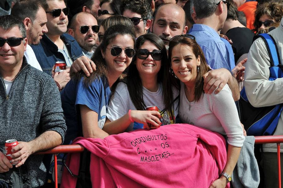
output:
<path id="1" fill-rule="evenodd" d="M 84 85 L 89 86 L 93 80 L 98 77 L 105 76 L 107 77 L 107 64 L 105 59 L 102 57 L 101 51 L 105 53 L 106 47 L 112 41 L 115 40 L 117 35 L 129 35 L 135 43 L 135 33 L 124 25 L 113 25 L 105 31 L 103 41 L 101 42 L 100 46 L 97 47 L 95 50 L 94 55 L 92 56 L 92 61 L 96 64 L 96 71 L 94 71 L 89 77 L 86 77 L 83 71 L 80 71 L 76 74 L 73 74 L 71 78 L 75 81 L 80 80 L 81 77 L 84 77 Z"/>

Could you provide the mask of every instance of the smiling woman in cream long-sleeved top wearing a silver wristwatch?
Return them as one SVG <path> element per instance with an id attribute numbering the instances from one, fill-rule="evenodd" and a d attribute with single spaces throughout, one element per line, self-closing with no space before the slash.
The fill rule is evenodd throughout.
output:
<path id="1" fill-rule="evenodd" d="M 232 92 L 226 84 L 217 94 L 203 91 L 203 75 L 210 68 L 192 35 L 175 36 L 169 42 L 168 58 L 181 81 L 179 116 L 193 124 L 227 136 L 227 162 L 212 187 L 225 187 L 237 163 L 245 140 Z"/>

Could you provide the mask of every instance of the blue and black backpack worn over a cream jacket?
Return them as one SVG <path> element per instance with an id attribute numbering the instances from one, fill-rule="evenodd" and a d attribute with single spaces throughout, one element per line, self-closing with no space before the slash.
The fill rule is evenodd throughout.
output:
<path id="1" fill-rule="evenodd" d="M 267 47 L 270 57 L 270 77 L 273 81 L 283 77 L 282 65 L 280 63 L 278 48 L 272 36 L 267 33 L 255 36 L 254 40 L 261 37 Z M 239 116 L 241 123 L 247 130 L 247 135 L 273 135 L 280 118 L 282 104 L 269 107 L 253 107 L 247 99 L 245 88 L 241 91 L 239 100 Z"/>

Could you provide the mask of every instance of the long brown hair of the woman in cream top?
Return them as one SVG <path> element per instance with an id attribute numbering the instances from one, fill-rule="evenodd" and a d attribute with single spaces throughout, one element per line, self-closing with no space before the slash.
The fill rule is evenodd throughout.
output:
<path id="1" fill-rule="evenodd" d="M 170 64 L 172 63 L 171 62 L 172 50 L 175 46 L 177 46 L 179 44 L 191 47 L 196 58 L 198 58 L 198 56 L 200 56 L 199 71 L 197 73 L 197 79 L 196 79 L 195 86 L 194 86 L 194 89 L 195 89 L 194 100 L 198 101 L 200 99 L 200 97 L 202 96 L 202 94 L 204 93 L 204 91 L 203 91 L 203 84 L 204 84 L 203 83 L 203 75 L 211 69 L 206 64 L 206 61 L 205 61 L 205 58 L 204 58 L 204 55 L 203 55 L 203 51 L 200 48 L 200 46 L 197 44 L 197 41 L 193 40 L 191 38 L 184 37 L 184 36 L 174 37 L 170 40 L 170 42 L 169 42 L 169 52 L 168 52 L 168 58 L 169 58 Z"/>

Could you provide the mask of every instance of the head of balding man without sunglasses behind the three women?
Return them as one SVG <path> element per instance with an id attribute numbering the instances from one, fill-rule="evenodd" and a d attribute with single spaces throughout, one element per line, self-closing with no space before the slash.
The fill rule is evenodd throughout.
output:
<path id="1" fill-rule="evenodd" d="M 185 11 L 175 3 L 162 4 L 156 10 L 150 30 L 165 42 L 168 50 L 170 39 L 188 30 Z"/>

